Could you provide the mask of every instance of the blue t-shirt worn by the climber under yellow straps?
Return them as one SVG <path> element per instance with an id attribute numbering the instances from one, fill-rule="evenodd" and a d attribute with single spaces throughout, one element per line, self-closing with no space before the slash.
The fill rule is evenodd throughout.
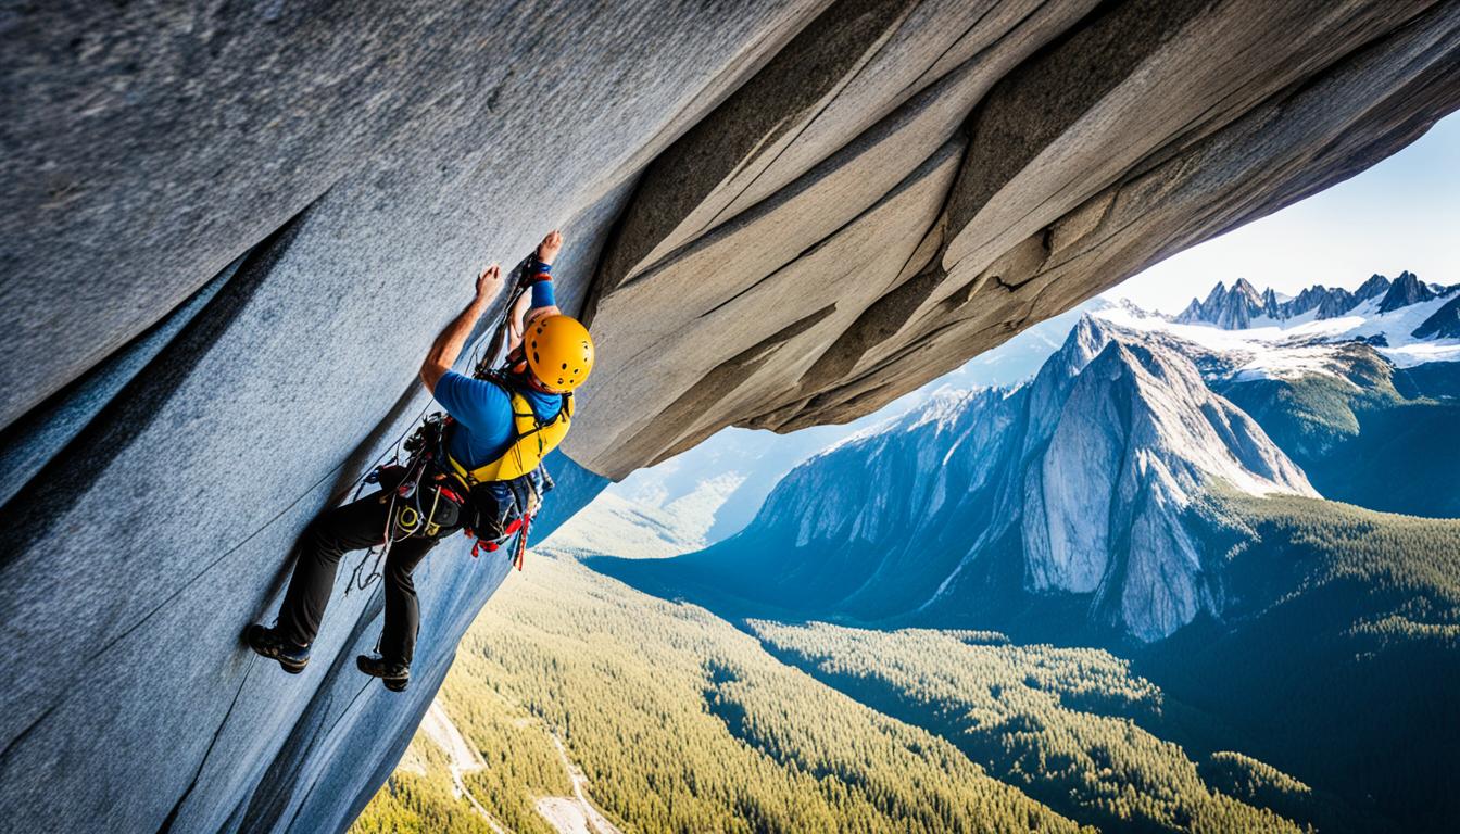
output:
<path id="1" fill-rule="evenodd" d="M 518 393 L 540 421 L 550 421 L 562 410 L 562 394 L 545 394 L 526 386 Z M 447 453 L 467 469 L 496 460 L 515 440 L 512 397 L 502 386 L 448 371 L 437 383 L 435 397 L 457 421 L 447 440 Z"/>

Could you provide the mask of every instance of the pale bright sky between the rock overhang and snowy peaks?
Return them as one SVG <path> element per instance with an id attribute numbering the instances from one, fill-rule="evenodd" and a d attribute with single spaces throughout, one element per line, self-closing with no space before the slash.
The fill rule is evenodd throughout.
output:
<path id="1" fill-rule="evenodd" d="M 1134 275 L 1107 298 L 1178 313 L 1218 280 L 1358 286 L 1400 270 L 1460 282 L 1460 114 L 1368 171 Z"/>

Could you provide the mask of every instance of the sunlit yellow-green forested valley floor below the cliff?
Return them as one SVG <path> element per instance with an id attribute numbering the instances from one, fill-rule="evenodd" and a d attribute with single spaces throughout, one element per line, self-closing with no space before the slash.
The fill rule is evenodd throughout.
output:
<path id="1" fill-rule="evenodd" d="M 1162 694 L 1107 651 L 731 624 L 533 556 L 352 831 L 1280 831 L 1314 802 L 1162 738 Z"/>

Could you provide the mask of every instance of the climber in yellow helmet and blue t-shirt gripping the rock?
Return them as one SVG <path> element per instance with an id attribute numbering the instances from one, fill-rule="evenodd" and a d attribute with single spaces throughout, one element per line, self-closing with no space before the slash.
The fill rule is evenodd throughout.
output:
<path id="1" fill-rule="evenodd" d="M 334 574 L 347 551 L 387 543 L 385 624 L 380 653 L 356 659 L 361 672 L 381 678 L 387 688 L 402 691 L 410 679 L 410 660 L 420 622 L 412 571 L 445 535 L 467 526 L 472 507 L 460 507 L 438 519 L 442 497 L 447 505 L 480 504 L 477 488 L 539 472 L 542 457 L 556 445 L 572 416 L 572 390 L 593 370 L 593 340 L 577 320 L 556 307 L 552 263 L 562 248 L 562 234 L 553 231 L 527 259 L 523 282 L 531 285 L 531 308 L 523 304 L 508 311 L 507 368 L 491 378 L 473 378 L 451 370 L 473 326 L 486 313 L 502 286 L 501 267 L 489 266 L 476 279 L 476 298 L 437 336 L 420 365 L 420 381 L 445 408 L 445 462 L 420 478 L 431 494 L 429 519 L 393 516 L 400 491 L 381 479 L 383 489 L 323 511 L 305 529 L 299 559 L 273 628 L 250 625 L 248 646 L 277 660 L 285 672 L 302 672 L 310 646 L 320 631 L 324 608 L 334 587 Z M 523 299 L 527 295 L 523 294 Z M 514 413 L 515 412 L 515 413 Z M 467 498 L 461 498 L 467 495 Z M 412 511 L 403 507 L 400 513 Z M 418 516 L 423 513 L 418 511 Z M 461 519 L 461 520 L 458 520 Z M 425 523 L 422 523 L 425 521 Z M 410 524 L 409 530 L 403 530 Z M 526 543 L 526 542 L 523 542 Z"/>

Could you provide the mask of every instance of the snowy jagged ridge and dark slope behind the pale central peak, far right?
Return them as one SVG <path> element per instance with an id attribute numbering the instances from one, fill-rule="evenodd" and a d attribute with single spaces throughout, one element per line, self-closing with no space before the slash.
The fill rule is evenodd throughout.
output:
<path id="1" fill-rule="evenodd" d="M 1099 315 L 1191 358 L 1324 497 L 1444 519 L 1460 516 L 1460 448 L 1435 438 L 1460 426 L 1460 343 L 1410 332 L 1447 304 L 1381 314 L 1371 297 L 1339 320 L 1248 330 Z"/>

